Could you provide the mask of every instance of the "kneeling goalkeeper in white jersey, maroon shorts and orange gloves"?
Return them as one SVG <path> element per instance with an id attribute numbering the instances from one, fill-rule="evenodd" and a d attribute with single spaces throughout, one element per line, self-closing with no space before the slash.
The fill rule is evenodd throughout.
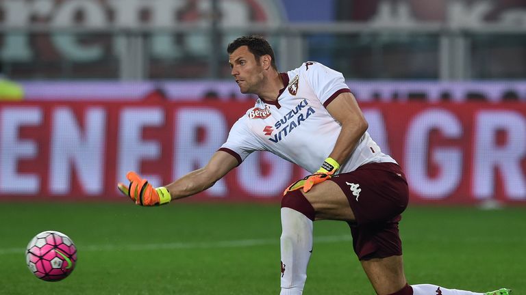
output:
<path id="1" fill-rule="evenodd" d="M 129 184 L 118 185 L 123 193 L 142 206 L 162 205 L 204 191 L 251 152 L 272 152 L 312 173 L 288 186 L 281 199 L 281 295 L 303 293 L 312 223 L 321 219 L 349 224 L 355 254 L 379 295 L 483 294 L 406 281 L 398 224 L 408 206 L 408 183 L 366 132 L 368 123 L 340 72 L 310 61 L 279 72 L 271 46 L 257 36 L 234 40 L 227 52 L 240 92 L 258 96 L 255 106 L 205 167 L 160 188 L 129 172 Z"/>

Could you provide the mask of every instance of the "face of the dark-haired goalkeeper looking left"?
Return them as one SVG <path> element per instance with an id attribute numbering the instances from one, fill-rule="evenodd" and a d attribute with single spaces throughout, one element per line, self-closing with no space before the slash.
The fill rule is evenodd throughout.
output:
<path id="1" fill-rule="evenodd" d="M 264 75 L 263 67 L 248 46 L 240 46 L 229 56 L 231 75 L 236 79 L 242 94 L 258 94 Z"/>

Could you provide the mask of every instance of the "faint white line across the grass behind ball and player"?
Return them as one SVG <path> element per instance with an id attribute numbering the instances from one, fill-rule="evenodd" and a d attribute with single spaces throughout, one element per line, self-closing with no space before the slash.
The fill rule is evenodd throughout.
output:
<path id="1" fill-rule="evenodd" d="M 314 237 L 314 244 L 350 241 L 351 236 L 320 236 Z M 106 245 L 77 245 L 78 251 L 145 251 L 145 250 L 170 250 L 170 249 L 212 249 L 212 248 L 240 248 L 279 244 L 279 238 L 255 240 L 224 240 L 216 242 L 175 242 L 159 244 L 106 244 Z M 23 248 L 0 248 L 0 255 L 22 254 Z"/>

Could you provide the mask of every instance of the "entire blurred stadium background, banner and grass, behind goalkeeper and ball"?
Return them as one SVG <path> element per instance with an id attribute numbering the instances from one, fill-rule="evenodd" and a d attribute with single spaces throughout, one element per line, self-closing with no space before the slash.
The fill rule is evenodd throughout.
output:
<path id="1" fill-rule="evenodd" d="M 347 78 L 410 182 L 410 283 L 526 290 L 525 0 L 0 0 L 0 294 L 277 294 L 279 199 L 305 171 L 253 154 L 163 208 L 118 195 L 202 167 L 253 104 L 226 45 Z M 373 294 L 341 223 L 316 227 L 305 294 Z M 73 275 L 25 244 L 68 234 Z M 486 291 L 487 291 L 486 290 Z"/>

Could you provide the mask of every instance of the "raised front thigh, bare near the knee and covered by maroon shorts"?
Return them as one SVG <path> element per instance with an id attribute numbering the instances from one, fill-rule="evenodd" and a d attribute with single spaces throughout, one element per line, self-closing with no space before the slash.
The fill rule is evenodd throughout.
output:
<path id="1" fill-rule="evenodd" d="M 394 163 L 369 163 L 355 171 L 335 175 L 303 193 L 316 212 L 316 220 L 389 221 L 408 205 L 405 175 Z"/>

